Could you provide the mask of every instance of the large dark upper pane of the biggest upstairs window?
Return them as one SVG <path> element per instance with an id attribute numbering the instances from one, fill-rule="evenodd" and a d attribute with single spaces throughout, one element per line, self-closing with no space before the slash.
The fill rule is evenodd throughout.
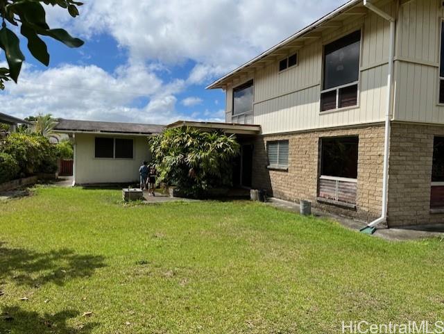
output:
<path id="1" fill-rule="evenodd" d="M 361 31 L 325 46 L 324 90 L 359 80 Z"/>

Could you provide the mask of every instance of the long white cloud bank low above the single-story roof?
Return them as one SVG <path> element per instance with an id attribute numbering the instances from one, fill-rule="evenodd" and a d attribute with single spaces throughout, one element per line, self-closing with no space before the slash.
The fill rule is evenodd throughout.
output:
<path id="1" fill-rule="evenodd" d="M 176 112 L 183 81 L 162 83 L 142 65 L 126 65 L 109 74 L 100 67 L 63 65 L 45 71 L 24 67 L 19 85 L 0 95 L 2 111 L 19 117 L 54 117 L 167 124 L 184 118 Z M 139 108 L 135 101 L 142 100 Z"/>

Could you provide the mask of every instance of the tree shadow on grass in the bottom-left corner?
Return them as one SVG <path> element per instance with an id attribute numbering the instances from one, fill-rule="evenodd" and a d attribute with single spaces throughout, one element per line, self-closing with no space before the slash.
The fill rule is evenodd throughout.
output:
<path id="1" fill-rule="evenodd" d="M 80 312 L 66 310 L 56 314 L 39 315 L 37 312 L 22 310 L 18 307 L 5 307 L 0 314 L 0 333 L 22 334 L 87 334 L 99 326 L 96 322 L 77 322 L 74 326 L 67 324 L 70 319 L 78 317 Z"/>

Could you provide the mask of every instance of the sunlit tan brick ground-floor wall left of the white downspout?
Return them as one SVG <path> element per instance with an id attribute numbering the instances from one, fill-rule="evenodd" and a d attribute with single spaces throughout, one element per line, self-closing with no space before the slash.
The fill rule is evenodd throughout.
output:
<path id="1" fill-rule="evenodd" d="M 322 137 L 359 136 L 357 210 L 318 203 L 319 141 Z M 266 142 L 289 140 L 288 172 L 268 170 Z M 363 219 L 367 222 L 381 214 L 384 126 L 311 131 L 258 137 L 254 142 L 253 188 L 266 189 L 274 197 L 289 201 L 307 199 L 314 207 Z"/>

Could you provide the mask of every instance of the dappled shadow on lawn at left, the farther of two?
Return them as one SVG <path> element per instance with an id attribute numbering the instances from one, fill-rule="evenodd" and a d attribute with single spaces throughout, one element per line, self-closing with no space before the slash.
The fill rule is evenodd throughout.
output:
<path id="1" fill-rule="evenodd" d="M 0 279 L 38 287 L 64 285 L 71 278 L 89 277 L 105 267 L 103 256 L 78 255 L 69 249 L 37 253 L 6 247 L 0 242 Z"/>

